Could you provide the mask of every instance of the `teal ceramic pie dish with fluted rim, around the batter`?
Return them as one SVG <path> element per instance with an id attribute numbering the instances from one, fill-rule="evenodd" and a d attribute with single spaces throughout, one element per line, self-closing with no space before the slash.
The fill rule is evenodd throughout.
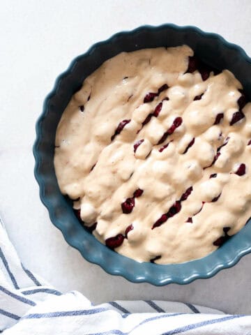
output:
<path id="1" fill-rule="evenodd" d="M 96 43 L 74 59 L 68 70 L 57 78 L 36 124 L 36 142 L 33 146 L 35 177 L 40 187 L 40 198 L 49 211 L 52 223 L 61 230 L 68 244 L 76 248 L 86 260 L 100 265 L 109 274 L 123 276 L 135 283 L 186 284 L 197 278 L 209 278 L 220 269 L 232 267 L 243 255 L 251 252 L 251 225 L 245 225 L 238 234 L 210 255 L 181 264 L 139 263 L 115 253 L 79 223 L 71 201 L 59 190 L 53 163 L 56 127 L 71 96 L 82 86 L 84 79 L 105 60 L 123 51 L 183 44 L 189 45 L 205 63 L 218 69 L 227 68 L 234 73 L 250 100 L 251 59 L 241 47 L 196 27 L 178 27 L 174 24 L 144 26 Z"/>

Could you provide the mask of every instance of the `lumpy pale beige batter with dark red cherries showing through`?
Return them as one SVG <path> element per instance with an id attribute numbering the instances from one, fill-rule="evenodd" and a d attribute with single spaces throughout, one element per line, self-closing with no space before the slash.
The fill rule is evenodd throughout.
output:
<path id="1" fill-rule="evenodd" d="M 56 131 L 61 192 L 99 241 L 139 262 L 204 257 L 251 216 L 251 104 L 228 70 L 186 73 L 192 55 L 184 45 L 105 61 Z"/>

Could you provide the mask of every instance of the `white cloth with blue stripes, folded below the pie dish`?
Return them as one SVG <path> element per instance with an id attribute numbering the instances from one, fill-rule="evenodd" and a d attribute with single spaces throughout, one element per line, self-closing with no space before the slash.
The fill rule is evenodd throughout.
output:
<path id="1" fill-rule="evenodd" d="M 0 218 L 0 332 L 6 335 L 250 335 L 250 315 L 167 301 L 112 301 L 93 306 L 63 294 L 20 262 Z"/>

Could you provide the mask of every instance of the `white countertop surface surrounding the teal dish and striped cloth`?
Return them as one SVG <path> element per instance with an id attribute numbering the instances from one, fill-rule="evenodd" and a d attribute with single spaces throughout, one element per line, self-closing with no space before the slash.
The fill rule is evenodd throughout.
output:
<path id="1" fill-rule="evenodd" d="M 56 76 L 93 43 L 142 24 L 172 22 L 221 34 L 251 54 L 250 17 L 248 0 L 1 1 L 0 214 L 26 267 L 93 303 L 165 299 L 251 313 L 251 255 L 213 278 L 161 288 L 129 283 L 84 260 L 40 202 L 31 151 L 36 119 Z"/>

